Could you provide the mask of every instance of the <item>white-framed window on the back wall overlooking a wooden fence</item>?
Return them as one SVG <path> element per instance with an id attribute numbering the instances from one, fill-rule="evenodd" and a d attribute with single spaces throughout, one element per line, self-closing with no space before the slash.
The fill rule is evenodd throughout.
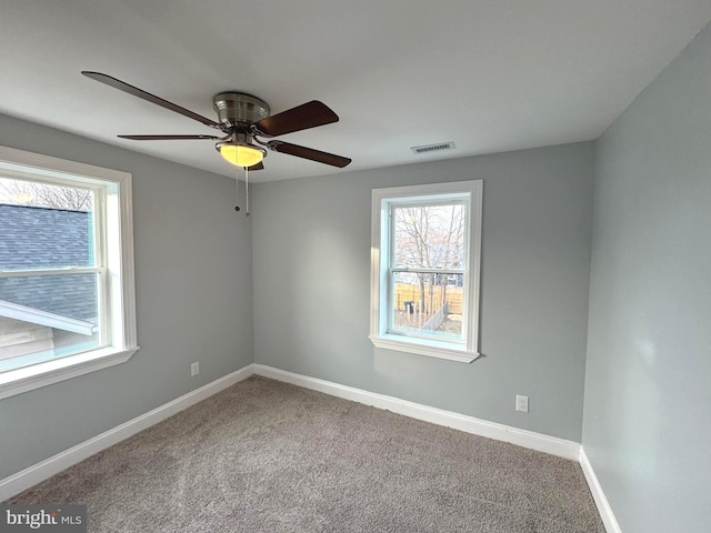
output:
<path id="1" fill-rule="evenodd" d="M 480 180 L 372 191 L 373 344 L 479 356 L 481 201 Z"/>

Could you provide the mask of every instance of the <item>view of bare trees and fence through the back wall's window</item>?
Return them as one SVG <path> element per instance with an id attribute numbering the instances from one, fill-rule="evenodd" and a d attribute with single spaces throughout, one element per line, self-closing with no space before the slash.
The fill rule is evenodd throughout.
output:
<path id="1" fill-rule="evenodd" d="M 463 203 L 393 205 L 390 329 L 462 340 Z"/>

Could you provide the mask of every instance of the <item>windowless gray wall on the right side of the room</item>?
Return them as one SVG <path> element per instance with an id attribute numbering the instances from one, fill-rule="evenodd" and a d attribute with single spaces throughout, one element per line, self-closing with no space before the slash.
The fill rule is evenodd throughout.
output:
<path id="1" fill-rule="evenodd" d="M 711 28 L 597 169 L 583 446 L 622 531 L 709 531 Z"/>

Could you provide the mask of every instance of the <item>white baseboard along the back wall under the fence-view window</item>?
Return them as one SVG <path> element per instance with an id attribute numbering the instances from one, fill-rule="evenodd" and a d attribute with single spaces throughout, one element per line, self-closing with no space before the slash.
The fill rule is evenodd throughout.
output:
<path id="1" fill-rule="evenodd" d="M 332 396 L 343 398 L 365 405 L 372 405 L 379 409 L 385 409 L 393 413 L 403 414 L 412 419 L 423 420 L 433 424 L 453 428 L 455 430 L 465 431 L 475 435 L 495 439 L 497 441 L 510 442 L 519 446 L 537 450 L 539 452 L 550 453 L 560 457 L 580 459 L 580 444 L 557 436 L 543 435 L 533 431 L 519 430 L 509 425 L 498 424 L 464 414 L 444 411 L 442 409 L 430 408 L 419 403 L 400 400 L 384 394 L 354 389 L 352 386 L 340 385 L 330 381 L 323 381 L 307 375 L 294 374 L 284 370 L 274 369 L 263 364 L 254 364 L 254 373 L 271 378 L 273 380 L 284 381 L 294 385 L 311 389 L 313 391 L 323 392 Z"/>

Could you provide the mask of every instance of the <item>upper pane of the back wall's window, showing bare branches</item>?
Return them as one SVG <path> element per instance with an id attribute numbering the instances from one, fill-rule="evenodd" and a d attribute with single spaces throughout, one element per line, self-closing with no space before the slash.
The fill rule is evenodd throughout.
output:
<path id="1" fill-rule="evenodd" d="M 392 215 L 395 266 L 464 268 L 463 204 L 394 207 Z"/>

